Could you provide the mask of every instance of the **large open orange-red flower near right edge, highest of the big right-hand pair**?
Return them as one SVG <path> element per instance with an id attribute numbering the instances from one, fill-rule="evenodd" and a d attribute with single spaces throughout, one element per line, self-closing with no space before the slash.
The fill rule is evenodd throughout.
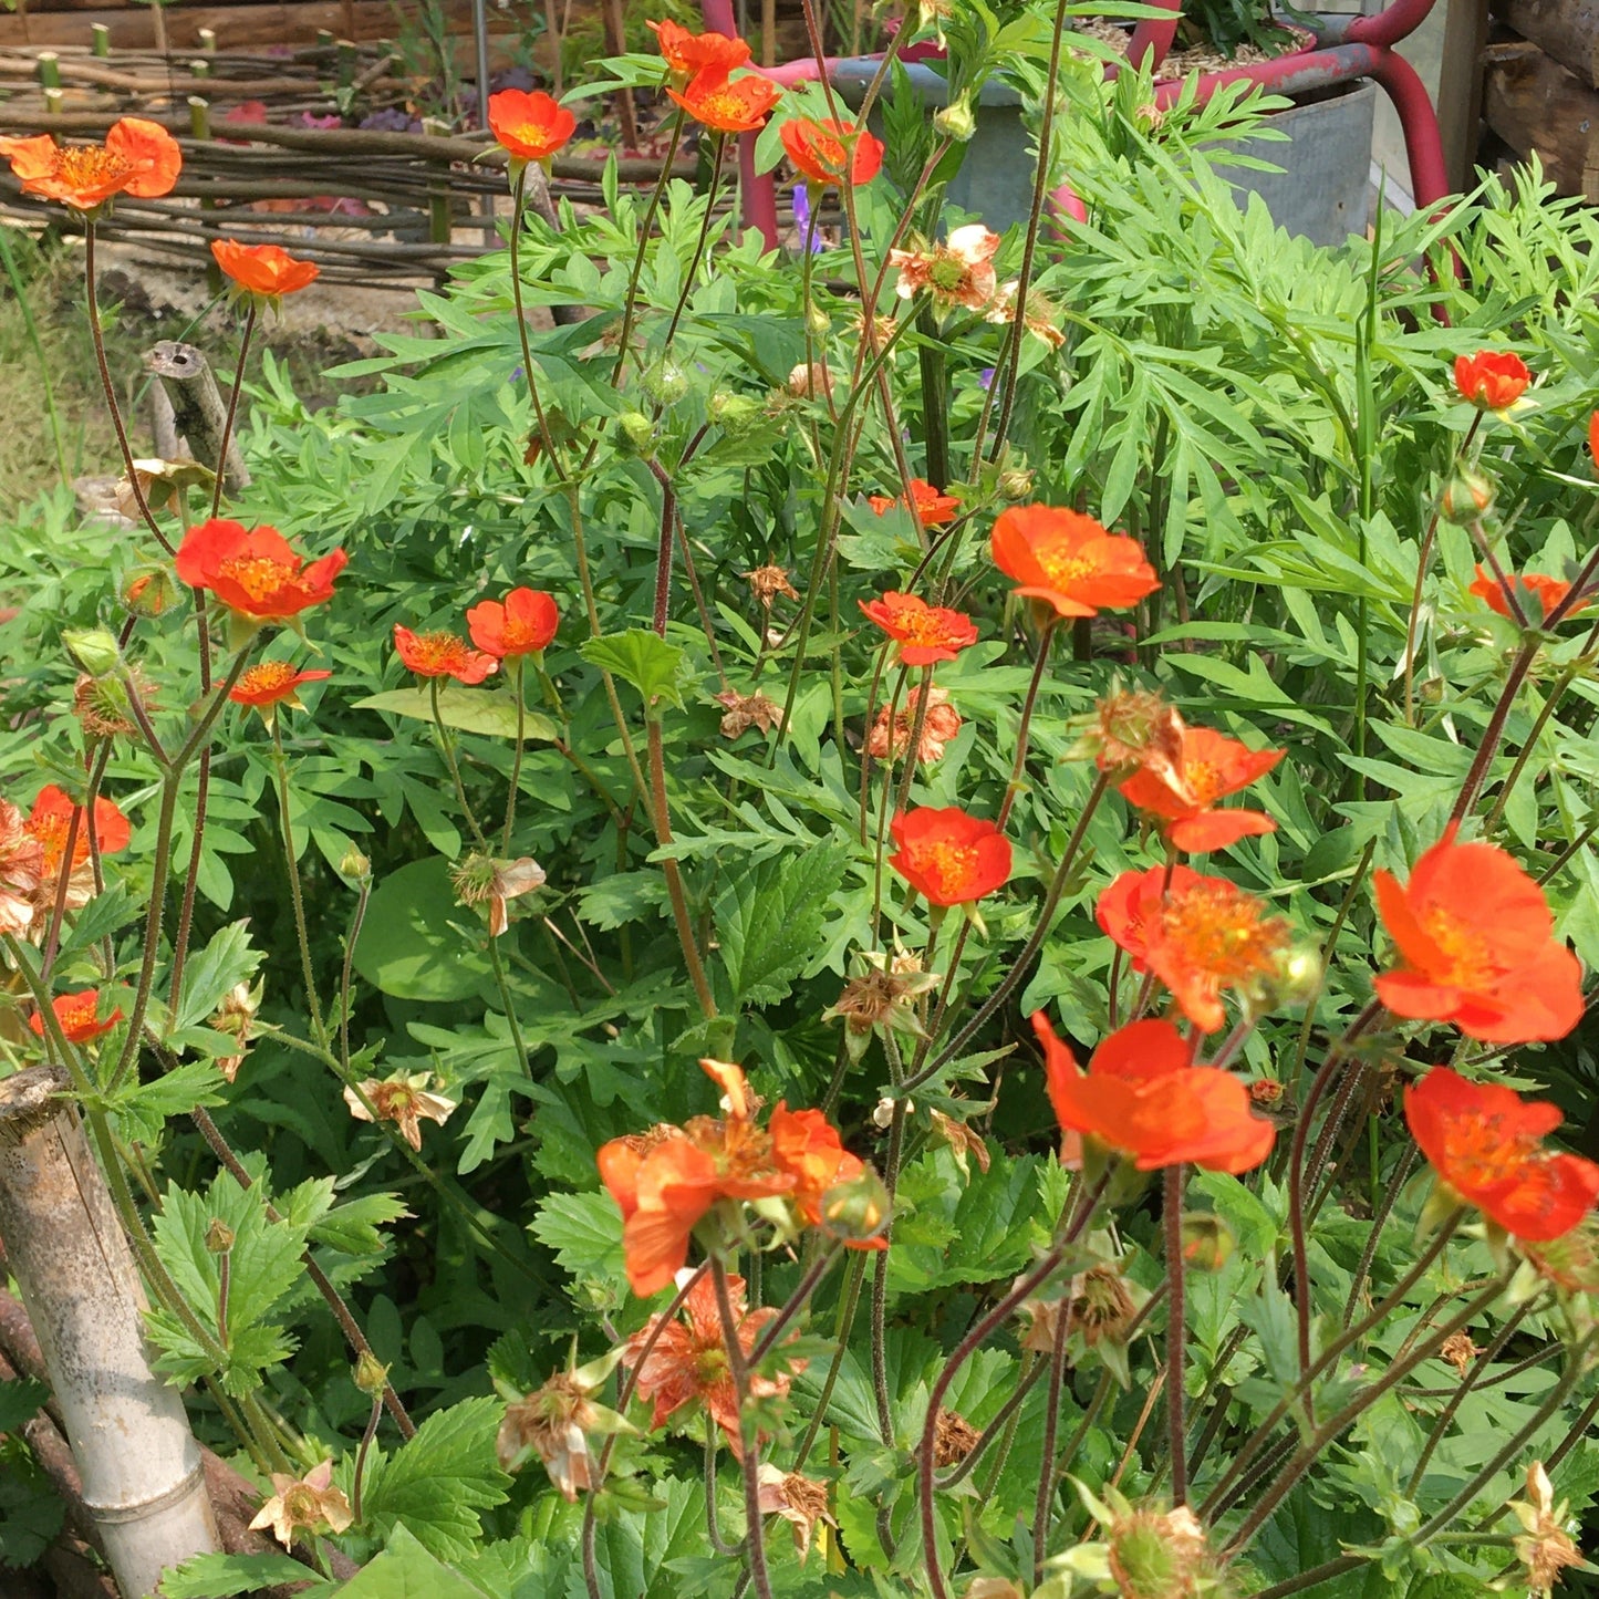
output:
<path id="1" fill-rule="evenodd" d="M 1543 889 L 1497 844 L 1457 844 L 1455 825 L 1401 887 L 1374 873 L 1399 966 L 1377 998 L 1412 1022 L 1453 1022 L 1487 1044 L 1546 1043 L 1583 1017 L 1581 966 L 1554 937 Z"/>

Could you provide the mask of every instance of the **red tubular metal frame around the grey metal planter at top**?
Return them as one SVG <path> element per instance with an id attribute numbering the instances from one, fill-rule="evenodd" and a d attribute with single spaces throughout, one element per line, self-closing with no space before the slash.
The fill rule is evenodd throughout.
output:
<path id="1" fill-rule="evenodd" d="M 1162 18 L 1146 18 L 1132 32 L 1127 50 L 1130 61 L 1148 61 L 1159 67 L 1172 48 L 1182 0 L 1153 0 L 1166 10 Z M 1382 85 L 1399 114 L 1404 133 L 1406 158 L 1410 166 L 1410 193 L 1418 206 L 1433 206 L 1449 193 L 1449 174 L 1444 166 L 1444 141 L 1438 131 L 1438 112 L 1426 93 L 1426 85 L 1415 69 L 1394 51 L 1399 40 L 1414 34 L 1434 0 L 1394 0 L 1375 16 L 1314 16 L 1314 43 L 1273 61 L 1247 67 L 1230 67 L 1223 72 L 1207 72 L 1199 78 L 1199 101 L 1209 99 L 1223 83 L 1258 83 L 1279 94 L 1300 94 L 1306 90 L 1329 88 L 1335 83 L 1353 83 L 1370 78 Z M 700 13 L 705 26 L 718 34 L 736 34 L 732 0 L 702 0 Z M 838 58 L 815 61 L 814 58 L 790 61 L 780 67 L 756 67 L 764 77 L 782 85 L 811 83 L 838 67 Z M 1154 88 L 1156 104 L 1170 106 L 1182 93 L 1178 78 L 1161 82 Z M 755 173 L 755 134 L 747 133 L 739 141 L 739 177 L 744 192 L 744 222 L 758 229 L 766 243 L 777 246 L 777 187 L 771 173 Z M 1062 185 L 1051 195 L 1051 208 L 1059 216 L 1083 221 L 1083 201 L 1070 185 Z"/>

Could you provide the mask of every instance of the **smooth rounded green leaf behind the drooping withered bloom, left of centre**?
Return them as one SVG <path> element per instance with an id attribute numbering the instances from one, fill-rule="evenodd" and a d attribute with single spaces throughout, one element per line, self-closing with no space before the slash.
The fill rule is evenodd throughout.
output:
<path id="1" fill-rule="evenodd" d="M 492 977 L 488 956 L 464 931 L 473 921 L 456 903 L 449 862 L 413 860 L 373 891 L 355 969 L 395 999 L 470 999 Z"/>

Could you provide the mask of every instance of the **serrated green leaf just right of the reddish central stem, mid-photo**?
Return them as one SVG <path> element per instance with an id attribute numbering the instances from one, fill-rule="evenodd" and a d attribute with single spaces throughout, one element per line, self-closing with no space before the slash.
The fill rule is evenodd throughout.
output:
<path id="1" fill-rule="evenodd" d="M 828 899 L 844 879 L 846 854 L 822 844 L 772 855 L 740 871 L 716 902 L 721 963 L 737 1004 L 776 1004 L 817 953 Z"/>

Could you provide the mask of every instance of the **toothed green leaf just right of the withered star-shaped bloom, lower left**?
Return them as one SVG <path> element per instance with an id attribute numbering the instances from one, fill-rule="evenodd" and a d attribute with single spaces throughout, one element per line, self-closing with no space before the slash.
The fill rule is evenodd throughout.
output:
<path id="1" fill-rule="evenodd" d="M 464 1561 L 481 1535 L 478 1511 L 505 1500 L 494 1458 L 499 1399 L 465 1399 L 430 1415 L 409 1442 L 368 1466 L 366 1524 L 379 1537 L 405 1524 L 441 1561 Z"/>

